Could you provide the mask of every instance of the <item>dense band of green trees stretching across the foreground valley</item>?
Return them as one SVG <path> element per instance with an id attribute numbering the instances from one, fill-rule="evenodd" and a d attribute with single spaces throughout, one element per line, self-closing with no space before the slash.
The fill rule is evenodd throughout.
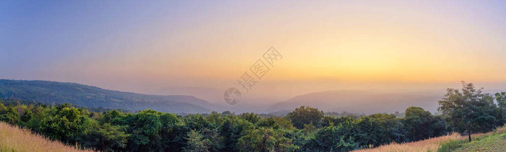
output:
<path id="1" fill-rule="evenodd" d="M 348 151 L 449 132 L 487 132 L 504 124 L 506 92 L 486 94 L 463 83 L 462 89 L 447 89 L 438 103 L 439 115 L 408 107 L 404 118 L 385 113 L 334 117 L 301 106 L 284 117 L 264 118 L 230 111 L 131 113 L 6 99 L 0 120 L 101 151 Z"/>

